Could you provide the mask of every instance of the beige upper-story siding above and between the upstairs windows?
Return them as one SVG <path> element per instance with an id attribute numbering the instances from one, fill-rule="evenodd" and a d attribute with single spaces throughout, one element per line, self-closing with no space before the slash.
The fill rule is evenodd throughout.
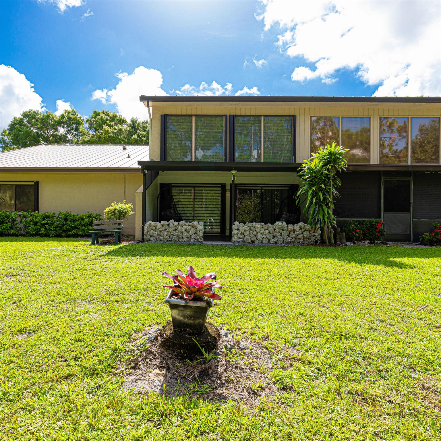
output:
<path id="1" fill-rule="evenodd" d="M 338 104 L 338 105 L 337 105 Z M 169 115 L 296 115 L 296 162 L 310 157 L 311 116 L 370 116 L 370 163 L 378 164 L 380 159 L 380 116 L 441 116 L 441 103 L 409 104 L 396 103 L 237 103 L 237 102 L 183 102 L 152 103 L 151 158 L 160 160 L 161 114 Z"/>

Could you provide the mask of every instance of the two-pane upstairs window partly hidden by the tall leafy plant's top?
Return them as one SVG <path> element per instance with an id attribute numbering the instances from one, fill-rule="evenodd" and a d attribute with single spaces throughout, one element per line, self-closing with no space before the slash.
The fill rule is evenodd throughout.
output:
<path id="1" fill-rule="evenodd" d="M 336 142 L 349 163 L 370 162 L 369 116 L 311 116 L 311 153 Z"/>

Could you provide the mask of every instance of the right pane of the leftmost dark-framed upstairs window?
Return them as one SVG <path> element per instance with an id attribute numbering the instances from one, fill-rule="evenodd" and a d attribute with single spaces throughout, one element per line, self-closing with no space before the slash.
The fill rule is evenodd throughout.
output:
<path id="1" fill-rule="evenodd" d="M 224 160 L 224 117 L 196 116 L 196 161 Z"/>

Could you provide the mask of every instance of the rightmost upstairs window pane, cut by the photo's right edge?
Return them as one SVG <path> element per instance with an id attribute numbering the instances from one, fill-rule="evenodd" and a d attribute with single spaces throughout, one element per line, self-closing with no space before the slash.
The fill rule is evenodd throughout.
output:
<path id="1" fill-rule="evenodd" d="M 439 163 L 439 118 L 412 118 L 411 137 L 411 155 L 413 164 Z"/>

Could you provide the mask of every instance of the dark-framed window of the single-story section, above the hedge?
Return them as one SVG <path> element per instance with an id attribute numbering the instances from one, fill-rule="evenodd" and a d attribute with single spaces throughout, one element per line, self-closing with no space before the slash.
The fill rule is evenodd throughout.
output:
<path id="1" fill-rule="evenodd" d="M 0 211 L 38 211 L 36 183 L 0 183 Z"/>

